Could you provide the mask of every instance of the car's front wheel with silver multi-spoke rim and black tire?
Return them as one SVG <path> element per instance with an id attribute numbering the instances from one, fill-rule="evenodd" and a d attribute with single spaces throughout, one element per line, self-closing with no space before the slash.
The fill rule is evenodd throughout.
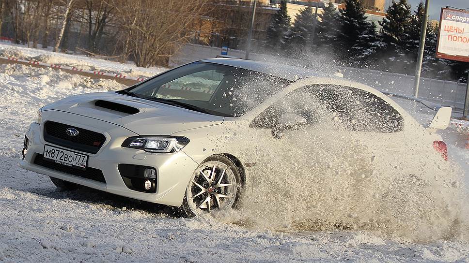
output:
<path id="1" fill-rule="evenodd" d="M 240 195 L 239 168 L 226 156 L 210 156 L 192 174 L 180 214 L 192 218 L 237 208 Z"/>

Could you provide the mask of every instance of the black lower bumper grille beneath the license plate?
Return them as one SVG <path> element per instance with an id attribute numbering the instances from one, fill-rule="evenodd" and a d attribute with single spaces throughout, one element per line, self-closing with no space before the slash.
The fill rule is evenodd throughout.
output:
<path id="1" fill-rule="evenodd" d="M 78 168 L 56 163 L 54 161 L 45 160 L 42 154 L 36 155 L 36 157 L 34 158 L 34 164 L 65 174 L 75 175 L 78 177 L 106 183 L 106 179 L 104 178 L 103 172 L 96 168 L 86 167 L 85 170 L 80 170 Z"/>

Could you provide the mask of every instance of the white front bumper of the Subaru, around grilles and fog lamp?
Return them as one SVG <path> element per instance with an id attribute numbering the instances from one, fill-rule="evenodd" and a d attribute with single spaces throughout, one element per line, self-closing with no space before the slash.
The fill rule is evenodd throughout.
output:
<path id="1" fill-rule="evenodd" d="M 90 117 L 49 110 L 43 112 L 43 123 L 47 120 L 100 132 L 106 136 L 106 142 L 96 154 L 82 152 L 89 156 L 87 167 L 101 170 L 106 183 L 34 164 L 34 158 L 38 154 L 43 154 L 46 144 L 56 146 L 44 141 L 43 125 L 36 123 L 32 123 L 26 132 L 29 145 L 24 160 L 19 162 L 21 168 L 129 198 L 164 205 L 180 206 L 182 204 L 190 176 L 198 166 L 198 163 L 190 159 L 183 151 L 169 154 L 149 153 L 143 150 L 122 147 L 121 144 L 126 138 L 139 134 L 121 126 Z M 119 164 L 154 167 L 156 169 L 156 193 L 144 193 L 127 188 L 122 176 L 119 174 L 117 168 Z"/>

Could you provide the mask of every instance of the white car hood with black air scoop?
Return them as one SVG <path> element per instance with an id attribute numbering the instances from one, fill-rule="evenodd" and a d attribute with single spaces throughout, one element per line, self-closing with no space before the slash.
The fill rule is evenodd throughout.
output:
<path id="1" fill-rule="evenodd" d="M 178 131 L 221 124 L 224 119 L 113 91 L 71 96 L 48 104 L 42 110 L 59 110 L 92 117 L 125 127 L 139 135 L 171 135 Z"/>

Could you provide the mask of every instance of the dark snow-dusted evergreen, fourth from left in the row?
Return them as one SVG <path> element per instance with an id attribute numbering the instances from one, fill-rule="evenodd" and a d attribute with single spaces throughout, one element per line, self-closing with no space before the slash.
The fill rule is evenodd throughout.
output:
<path id="1" fill-rule="evenodd" d="M 345 9 L 341 13 L 339 44 L 346 60 L 356 60 L 370 48 L 368 41 L 375 42 L 375 26 L 366 20 L 365 8 L 361 0 L 345 0 Z"/>

